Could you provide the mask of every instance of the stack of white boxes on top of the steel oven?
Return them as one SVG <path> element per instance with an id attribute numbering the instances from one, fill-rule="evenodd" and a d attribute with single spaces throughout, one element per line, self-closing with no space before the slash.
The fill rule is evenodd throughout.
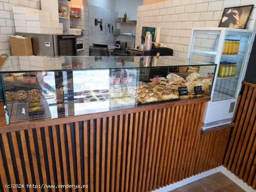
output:
<path id="1" fill-rule="evenodd" d="M 28 7 L 13 7 L 17 33 L 63 34 L 63 24 L 51 22 L 51 13 Z"/>

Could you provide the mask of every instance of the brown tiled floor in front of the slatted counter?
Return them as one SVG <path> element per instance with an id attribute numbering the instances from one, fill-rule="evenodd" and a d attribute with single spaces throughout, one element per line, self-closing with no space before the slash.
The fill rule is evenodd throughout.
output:
<path id="1" fill-rule="evenodd" d="M 245 192 L 233 181 L 218 172 L 206 178 L 184 185 L 171 192 Z"/>

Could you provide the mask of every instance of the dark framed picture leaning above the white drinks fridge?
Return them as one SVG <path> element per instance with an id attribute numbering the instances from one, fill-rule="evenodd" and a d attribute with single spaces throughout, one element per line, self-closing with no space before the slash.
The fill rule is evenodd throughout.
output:
<path id="1" fill-rule="evenodd" d="M 245 29 L 254 5 L 225 8 L 219 27 Z"/>

